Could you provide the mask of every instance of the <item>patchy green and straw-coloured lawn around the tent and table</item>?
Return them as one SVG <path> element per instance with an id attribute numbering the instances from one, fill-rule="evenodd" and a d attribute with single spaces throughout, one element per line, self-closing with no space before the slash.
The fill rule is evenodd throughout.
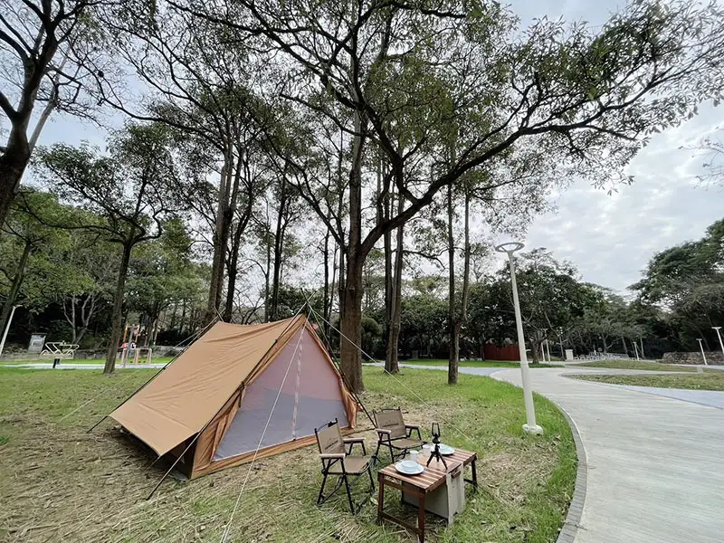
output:
<path id="1" fill-rule="evenodd" d="M 401 405 L 408 422 L 423 425 L 425 438 L 429 424 L 438 421 L 445 443 L 479 453 L 480 490 L 468 489 L 465 510 L 452 527 L 428 516 L 427 541 L 556 540 L 574 490 L 576 449 L 555 405 L 536 396 L 538 422 L 546 433 L 529 436 L 521 430 L 522 393 L 514 386 L 465 375 L 458 386 L 447 386 L 443 372 L 424 370 L 407 369 L 397 377 L 378 367 L 363 371 L 368 409 Z M 96 370 L 0 368 L 0 540 L 220 540 L 248 465 L 190 482 L 169 478 L 147 501 L 163 467 L 151 466 L 153 457 L 112 422 L 85 433 L 151 375 L 150 370 L 120 370 L 108 377 Z M 372 447 L 374 431 L 364 414 L 358 422 Z M 320 482 L 313 447 L 256 462 L 229 540 L 416 541 L 396 525 L 378 526 L 374 502 L 357 516 L 349 514 L 342 493 L 317 507 Z M 397 491 L 386 491 L 387 508 L 402 512 Z M 412 520 L 416 513 L 404 514 Z"/>

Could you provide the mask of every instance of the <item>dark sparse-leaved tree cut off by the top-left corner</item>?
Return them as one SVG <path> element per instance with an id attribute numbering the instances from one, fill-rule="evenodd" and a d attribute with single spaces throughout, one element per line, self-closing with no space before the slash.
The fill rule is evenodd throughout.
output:
<path id="1" fill-rule="evenodd" d="M 94 109 L 87 88 L 89 70 L 104 77 L 93 24 L 102 1 L 0 1 L 0 125 L 9 125 L 0 145 L 0 224 L 52 111 L 88 117 Z"/>

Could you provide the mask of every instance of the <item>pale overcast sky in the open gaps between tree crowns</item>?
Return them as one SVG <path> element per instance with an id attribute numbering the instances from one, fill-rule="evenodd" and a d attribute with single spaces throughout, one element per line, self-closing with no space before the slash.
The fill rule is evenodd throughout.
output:
<path id="1" fill-rule="evenodd" d="M 611 0 L 514 0 L 513 10 L 523 24 L 548 15 L 568 21 L 601 24 L 620 2 Z M 679 129 L 652 139 L 633 160 L 632 186 L 618 193 L 577 181 L 554 195 L 556 211 L 538 217 L 524 240 L 528 248 L 547 247 L 559 259 L 573 262 L 585 281 L 617 291 L 637 281 L 654 252 L 700 238 L 706 227 L 724 216 L 724 191 L 700 186 L 702 157 L 691 150 L 700 138 L 724 128 L 724 108 L 701 108 L 700 115 Z M 52 119 L 42 144 L 81 140 L 103 146 L 103 134 L 77 119 Z"/>

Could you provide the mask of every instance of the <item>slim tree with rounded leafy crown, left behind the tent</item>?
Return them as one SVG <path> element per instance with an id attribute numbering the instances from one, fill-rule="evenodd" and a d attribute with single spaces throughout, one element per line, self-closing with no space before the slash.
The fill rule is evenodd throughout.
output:
<path id="1" fill-rule="evenodd" d="M 163 233 L 164 222 L 176 209 L 174 196 L 168 190 L 175 182 L 168 138 L 167 130 L 160 125 L 131 125 L 111 141 L 110 157 L 100 156 L 97 149 L 88 146 L 71 148 L 63 144 L 43 150 L 40 155 L 43 179 L 62 198 L 93 214 L 86 224 L 62 226 L 96 231 L 121 248 L 103 369 L 106 374 L 115 368 L 131 253 L 138 243 L 157 239 Z"/>

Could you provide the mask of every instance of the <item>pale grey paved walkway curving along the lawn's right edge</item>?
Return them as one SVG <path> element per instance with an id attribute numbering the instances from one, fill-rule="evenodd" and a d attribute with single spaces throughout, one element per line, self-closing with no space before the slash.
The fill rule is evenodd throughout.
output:
<path id="1" fill-rule="evenodd" d="M 487 375 L 488 369 L 461 372 Z M 535 369 L 530 378 L 536 391 L 567 411 L 586 450 L 576 543 L 724 541 L 724 412 L 561 375 L 570 373 L 575 370 Z M 492 376 L 520 383 L 517 369 Z"/>

